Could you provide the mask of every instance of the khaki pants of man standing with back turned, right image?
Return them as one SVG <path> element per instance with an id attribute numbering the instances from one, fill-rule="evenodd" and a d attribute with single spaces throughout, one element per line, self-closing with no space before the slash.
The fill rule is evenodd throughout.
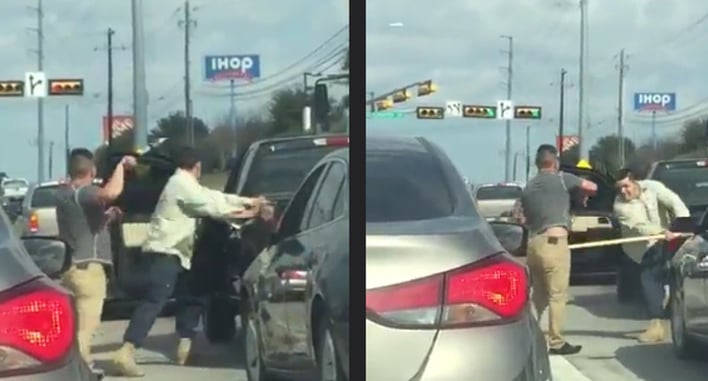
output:
<path id="1" fill-rule="evenodd" d="M 528 244 L 527 265 L 537 317 L 540 320 L 549 307 L 548 344 L 551 348 L 560 348 L 565 344 L 561 331 L 570 286 L 568 238 L 545 234 L 533 237 Z"/>

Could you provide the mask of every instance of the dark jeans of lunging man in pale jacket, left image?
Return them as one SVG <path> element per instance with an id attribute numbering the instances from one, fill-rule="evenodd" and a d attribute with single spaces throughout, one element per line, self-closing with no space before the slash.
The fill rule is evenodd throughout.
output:
<path id="1" fill-rule="evenodd" d="M 193 296 L 191 272 L 182 268 L 174 255 L 150 253 L 149 281 L 140 304 L 130 318 L 123 342 L 140 348 L 167 301 L 176 299 L 175 330 L 180 338 L 194 338 L 203 310 L 202 300 Z"/>

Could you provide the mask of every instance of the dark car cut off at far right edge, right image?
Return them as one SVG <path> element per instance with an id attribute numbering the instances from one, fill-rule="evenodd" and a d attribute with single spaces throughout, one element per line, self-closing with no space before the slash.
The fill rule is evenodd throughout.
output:
<path id="1" fill-rule="evenodd" d="M 671 339 L 682 359 L 705 359 L 708 349 L 708 214 L 678 218 L 672 231 L 692 233 L 671 259 Z"/>

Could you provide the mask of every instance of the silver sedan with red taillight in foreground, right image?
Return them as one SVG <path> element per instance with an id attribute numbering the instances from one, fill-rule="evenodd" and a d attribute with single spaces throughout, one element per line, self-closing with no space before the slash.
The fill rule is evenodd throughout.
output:
<path id="1" fill-rule="evenodd" d="M 527 268 L 509 254 L 524 235 L 480 215 L 438 146 L 367 138 L 366 378 L 551 379 Z"/>

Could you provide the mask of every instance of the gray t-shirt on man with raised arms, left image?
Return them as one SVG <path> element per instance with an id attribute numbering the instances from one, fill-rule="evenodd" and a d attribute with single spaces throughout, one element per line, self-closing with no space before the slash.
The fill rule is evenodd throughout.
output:
<path id="1" fill-rule="evenodd" d="M 113 263 L 111 237 L 107 229 L 105 206 L 98 198 L 99 187 L 70 184 L 57 192 L 59 238 L 72 249 L 74 263 Z"/>

